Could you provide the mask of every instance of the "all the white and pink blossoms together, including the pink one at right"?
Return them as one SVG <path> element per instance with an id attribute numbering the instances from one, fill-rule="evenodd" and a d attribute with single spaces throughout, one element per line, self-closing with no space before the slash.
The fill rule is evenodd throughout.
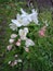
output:
<path id="1" fill-rule="evenodd" d="M 35 9 L 31 10 L 31 13 L 28 14 L 26 13 L 23 9 L 21 9 L 22 14 L 17 14 L 16 15 L 16 20 L 12 20 L 12 23 L 10 24 L 10 28 L 12 31 L 16 31 L 18 32 L 17 34 L 13 33 L 11 35 L 11 38 L 9 39 L 10 45 L 6 47 L 6 49 L 10 51 L 13 48 L 13 45 L 21 47 L 22 46 L 22 42 L 24 40 L 24 49 L 26 52 L 29 52 L 29 46 L 35 46 L 35 42 L 30 38 L 27 37 L 27 34 L 29 33 L 29 29 L 27 27 L 27 25 L 30 24 L 30 22 L 35 22 L 35 24 L 39 25 L 39 21 L 38 21 L 38 12 L 37 10 L 35 11 Z M 21 26 L 24 26 L 24 28 L 19 28 Z M 40 36 L 44 36 L 45 33 L 45 28 L 47 25 L 44 25 L 38 33 Z M 17 36 L 19 36 L 19 38 L 17 38 Z M 17 40 L 15 40 L 17 39 Z M 17 55 L 15 55 L 15 57 L 17 57 Z M 14 67 L 15 64 L 17 64 L 17 62 L 22 62 L 22 59 L 17 59 L 14 61 L 9 61 L 9 64 L 11 64 L 12 67 Z"/>

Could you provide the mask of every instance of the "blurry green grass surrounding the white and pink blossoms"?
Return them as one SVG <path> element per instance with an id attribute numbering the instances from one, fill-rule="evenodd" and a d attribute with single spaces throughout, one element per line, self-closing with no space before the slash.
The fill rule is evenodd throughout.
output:
<path id="1" fill-rule="evenodd" d="M 14 19 L 17 14 L 19 13 L 19 9 L 25 8 L 23 2 L 10 2 L 10 3 L 3 3 L 0 4 L 0 24 L 1 28 L 4 29 L 4 34 L 1 35 L 0 37 L 0 71 L 19 71 L 19 68 L 22 66 L 11 68 L 8 66 L 8 62 L 10 60 L 13 60 L 14 54 L 17 52 L 15 51 L 6 51 L 6 46 L 9 45 L 9 38 L 11 34 L 13 33 L 9 28 L 9 24 L 11 23 L 11 20 Z M 25 8 L 27 9 L 27 8 Z M 29 11 L 29 10 L 27 10 Z M 42 23 L 42 19 L 45 21 L 48 20 L 49 22 L 49 27 L 47 28 L 45 35 L 47 37 L 39 37 L 38 36 L 38 31 L 40 29 L 41 26 L 44 24 Z M 2 25 L 2 22 L 5 21 L 5 25 Z M 29 47 L 30 52 L 23 52 L 19 51 L 21 56 L 19 58 L 24 59 L 23 62 L 23 71 L 26 71 L 27 69 L 35 70 L 35 71 L 53 71 L 53 23 L 52 23 L 52 15 L 51 11 L 45 10 L 41 13 L 39 13 L 39 21 L 40 21 L 40 26 L 28 26 L 30 33 L 28 34 L 28 37 L 35 40 L 36 45 L 35 47 Z M 2 31 L 3 33 L 3 31 Z M 34 37 L 32 37 L 34 36 Z M 21 70 L 22 71 L 22 70 Z"/>

